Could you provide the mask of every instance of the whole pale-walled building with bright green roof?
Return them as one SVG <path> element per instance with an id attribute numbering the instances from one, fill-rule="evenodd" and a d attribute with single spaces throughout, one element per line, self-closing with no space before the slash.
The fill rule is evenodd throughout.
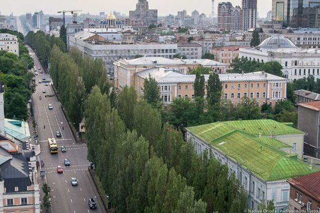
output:
<path id="1" fill-rule="evenodd" d="M 228 166 L 229 175 L 234 174 L 247 190 L 251 209 L 273 200 L 276 212 L 287 210 L 290 185 L 286 180 L 317 171 L 290 154 L 292 144 L 302 141 L 304 133 L 273 120 L 216 122 L 186 131 L 198 154 L 210 150 L 212 157 Z"/>

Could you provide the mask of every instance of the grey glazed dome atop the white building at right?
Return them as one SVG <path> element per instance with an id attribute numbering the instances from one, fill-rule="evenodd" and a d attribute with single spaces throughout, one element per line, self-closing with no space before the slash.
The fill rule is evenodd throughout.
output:
<path id="1" fill-rule="evenodd" d="M 283 36 L 272 36 L 264 40 L 258 47 L 265 49 L 297 48 L 290 39 Z"/>

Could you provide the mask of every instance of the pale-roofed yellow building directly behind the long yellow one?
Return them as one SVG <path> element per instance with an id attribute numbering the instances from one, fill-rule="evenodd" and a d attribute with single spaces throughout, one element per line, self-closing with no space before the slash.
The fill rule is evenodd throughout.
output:
<path id="1" fill-rule="evenodd" d="M 134 73 L 154 67 L 166 67 L 187 74 L 189 69 L 200 66 L 209 67 L 218 73 L 224 73 L 226 65 L 209 59 L 169 59 L 164 57 L 141 57 L 136 59 L 120 59 L 114 62 L 115 85 L 118 89 L 124 86 L 134 86 Z"/>

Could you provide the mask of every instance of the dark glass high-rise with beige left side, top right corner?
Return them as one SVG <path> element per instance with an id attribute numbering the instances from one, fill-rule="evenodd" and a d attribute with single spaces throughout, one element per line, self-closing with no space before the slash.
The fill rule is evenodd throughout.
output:
<path id="1" fill-rule="evenodd" d="M 320 0 L 273 0 L 272 20 L 292 28 L 319 28 Z"/>

